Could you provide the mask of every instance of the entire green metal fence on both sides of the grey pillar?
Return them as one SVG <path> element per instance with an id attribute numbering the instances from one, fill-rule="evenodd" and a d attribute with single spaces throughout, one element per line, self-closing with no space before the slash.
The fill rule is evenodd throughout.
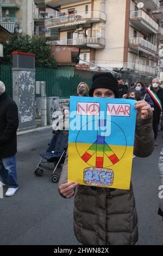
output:
<path id="1" fill-rule="evenodd" d="M 0 80 L 4 82 L 7 93 L 12 96 L 12 66 L 0 65 Z M 77 94 L 77 86 L 80 82 L 85 82 L 91 86 L 92 80 L 74 77 L 72 66 L 57 67 L 55 69 L 36 67 L 36 81 L 46 81 L 47 96 L 59 96 L 67 98 Z M 36 95 L 36 97 L 39 95 Z"/>

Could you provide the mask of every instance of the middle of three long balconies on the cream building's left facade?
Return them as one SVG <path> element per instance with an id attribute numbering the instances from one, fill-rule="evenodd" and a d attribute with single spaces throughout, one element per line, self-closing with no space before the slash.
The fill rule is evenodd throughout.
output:
<path id="1" fill-rule="evenodd" d="M 55 17 L 52 19 L 45 20 L 45 27 L 47 28 L 60 28 L 60 27 L 70 27 L 79 24 L 93 23 L 106 21 L 106 14 L 102 11 L 81 11 L 75 14 L 68 14 L 64 16 Z"/>

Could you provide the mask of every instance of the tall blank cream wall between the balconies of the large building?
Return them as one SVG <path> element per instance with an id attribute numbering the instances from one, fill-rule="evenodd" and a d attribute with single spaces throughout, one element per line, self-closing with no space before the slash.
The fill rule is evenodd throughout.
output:
<path id="1" fill-rule="evenodd" d="M 96 50 L 96 60 L 123 62 L 124 28 L 126 17 L 126 0 L 105 1 L 107 14 L 105 24 L 106 45 L 103 50 Z"/>

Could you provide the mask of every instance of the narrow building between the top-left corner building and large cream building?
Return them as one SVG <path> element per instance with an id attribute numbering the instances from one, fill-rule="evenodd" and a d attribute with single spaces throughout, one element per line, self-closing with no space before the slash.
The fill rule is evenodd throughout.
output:
<path id="1" fill-rule="evenodd" d="M 34 31 L 35 36 L 43 36 L 49 40 L 58 39 L 58 29 L 45 28 L 45 20 L 58 16 L 58 11 L 54 8 L 49 8 L 45 4 L 45 0 L 34 0 Z"/>

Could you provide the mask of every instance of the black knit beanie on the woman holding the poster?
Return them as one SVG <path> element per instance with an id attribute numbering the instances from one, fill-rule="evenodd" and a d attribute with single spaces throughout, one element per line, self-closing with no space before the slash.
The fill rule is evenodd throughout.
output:
<path id="1" fill-rule="evenodd" d="M 111 73 L 98 73 L 95 74 L 92 78 L 92 86 L 89 91 L 90 97 L 93 96 L 93 92 L 96 88 L 106 88 L 111 89 L 115 93 L 115 97 L 119 97 L 118 92 L 118 82 L 116 78 Z"/>

